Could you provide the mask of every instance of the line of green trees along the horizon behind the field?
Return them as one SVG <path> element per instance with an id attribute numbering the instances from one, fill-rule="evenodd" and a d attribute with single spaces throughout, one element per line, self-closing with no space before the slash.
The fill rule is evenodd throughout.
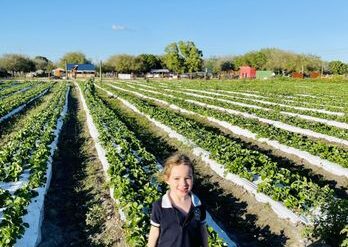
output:
<path id="1" fill-rule="evenodd" d="M 54 63 L 44 56 L 30 58 L 21 54 L 5 54 L 0 57 L 0 75 L 15 72 L 50 72 L 65 68 L 66 63 L 91 63 L 81 52 L 68 52 Z M 348 74 L 348 64 L 342 61 L 323 61 L 311 54 L 296 54 L 275 48 L 251 51 L 239 56 L 210 57 L 203 59 L 202 50 L 192 41 L 179 41 L 168 44 L 163 55 L 128 54 L 112 55 L 102 63 L 102 72 L 144 74 L 151 69 L 166 68 L 175 74 L 208 71 L 214 75 L 238 71 L 240 66 L 248 65 L 257 70 L 270 70 L 279 75 L 292 72 L 310 73 L 314 71 L 327 74 Z M 99 64 L 97 64 L 97 67 Z"/>

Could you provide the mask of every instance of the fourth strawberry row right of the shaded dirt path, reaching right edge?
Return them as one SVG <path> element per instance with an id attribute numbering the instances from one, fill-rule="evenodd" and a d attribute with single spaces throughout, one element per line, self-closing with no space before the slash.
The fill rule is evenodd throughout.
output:
<path id="1" fill-rule="evenodd" d="M 117 85 L 125 86 L 125 84 L 117 84 Z M 161 93 L 163 92 L 163 90 L 162 91 L 160 89 L 156 90 L 155 87 L 152 87 L 152 89 L 147 89 L 147 87 L 146 88 L 141 87 L 142 85 L 143 84 L 138 84 L 136 89 L 141 90 L 142 92 L 149 92 L 149 93 L 152 92 L 153 94 L 163 94 Z M 132 90 L 134 89 L 135 87 L 133 86 Z M 192 96 L 189 97 L 185 94 L 176 93 L 175 91 L 172 91 L 170 95 L 168 93 L 164 95 L 167 95 L 169 97 L 175 96 L 177 98 L 182 98 L 182 99 L 188 99 L 188 98 L 192 99 Z M 327 125 L 326 119 L 319 119 L 319 121 L 321 120 L 321 122 L 314 122 L 310 120 L 301 119 L 298 116 L 290 116 L 288 115 L 289 113 L 287 112 L 279 112 L 279 111 L 274 111 L 270 109 L 262 110 L 262 109 L 248 108 L 248 107 L 229 104 L 228 102 L 224 102 L 224 101 L 217 101 L 214 99 L 207 99 L 207 98 L 200 98 L 200 97 L 193 97 L 193 98 L 195 101 L 202 102 L 205 104 L 211 104 L 214 106 L 220 106 L 226 109 L 233 109 L 235 111 L 239 111 L 240 112 L 239 115 L 242 115 L 243 113 L 247 113 L 247 114 L 251 114 L 250 117 L 252 118 L 259 117 L 259 118 L 274 120 L 274 121 L 282 122 L 295 127 L 309 129 L 321 134 L 348 140 L 348 131 L 347 131 L 348 127 L 346 127 L 346 125 L 348 126 L 348 124 L 345 124 L 345 123 L 341 123 L 341 122 L 331 123 L 332 125 L 337 125 L 339 127 L 342 127 L 342 128 L 339 128 L 339 127 Z"/>

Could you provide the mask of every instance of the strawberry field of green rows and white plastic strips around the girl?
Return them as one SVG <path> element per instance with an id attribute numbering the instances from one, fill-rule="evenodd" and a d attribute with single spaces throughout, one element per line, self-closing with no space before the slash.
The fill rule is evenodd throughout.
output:
<path id="1" fill-rule="evenodd" d="M 328 202 L 347 205 L 346 83 L 10 81 L 0 84 L 0 246 L 40 243 L 69 97 L 129 246 L 146 246 L 151 204 L 166 190 L 157 174 L 174 151 L 197 166 L 210 246 L 306 246 L 301 232 Z"/>

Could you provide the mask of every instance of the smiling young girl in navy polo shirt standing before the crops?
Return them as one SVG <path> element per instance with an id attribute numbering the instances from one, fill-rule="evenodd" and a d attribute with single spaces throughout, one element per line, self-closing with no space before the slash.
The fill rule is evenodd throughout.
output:
<path id="1" fill-rule="evenodd" d="M 206 212 L 191 190 L 193 165 L 182 154 L 170 156 L 162 173 L 169 191 L 152 205 L 149 247 L 208 247 Z"/>

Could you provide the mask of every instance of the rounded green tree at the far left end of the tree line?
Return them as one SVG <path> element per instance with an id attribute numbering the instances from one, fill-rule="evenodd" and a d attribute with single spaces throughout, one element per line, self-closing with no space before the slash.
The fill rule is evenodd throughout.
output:
<path id="1" fill-rule="evenodd" d="M 34 62 L 24 55 L 20 54 L 5 54 L 0 58 L 0 68 L 14 72 L 30 72 L 35 70 Z"/>

